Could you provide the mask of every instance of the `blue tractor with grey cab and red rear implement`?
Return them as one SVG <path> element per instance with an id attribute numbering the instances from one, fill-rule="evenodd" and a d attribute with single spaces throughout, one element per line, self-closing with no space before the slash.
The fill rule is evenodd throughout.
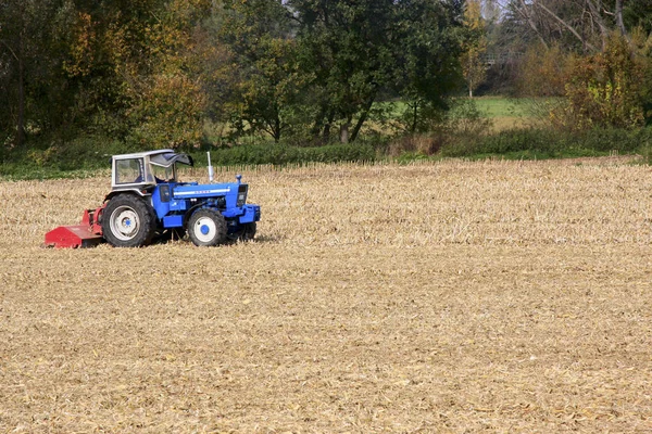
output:
<path id="1" fill-rule="evenodd" d="M 229 240 L 253 239 L 259 205 L 247 204 L 249 186 L 180 182 L 177 164 L 192 166 L 192 157 L 173 150 L 112 157 L 111 192 L 96 209 L 87 209 L 79 225 L 46 233 L 46 246 L 89 247 L 103 241 L 116 247 L 140 247 L 158 239 L 183 237 L 195 245 L 214 246 Z"/>

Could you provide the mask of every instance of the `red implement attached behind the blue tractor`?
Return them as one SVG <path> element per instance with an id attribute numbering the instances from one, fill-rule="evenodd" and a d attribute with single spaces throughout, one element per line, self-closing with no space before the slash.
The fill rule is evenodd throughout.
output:
<path id="1" fill-rule="evenodd" d="M 46 247 L 76 248 L 92 247 L 101 243 L 102 226 L 98 219 L 104 205 L 97 209 L 86 209 L 79 225 L 60 226 L 46 233 Z"/>

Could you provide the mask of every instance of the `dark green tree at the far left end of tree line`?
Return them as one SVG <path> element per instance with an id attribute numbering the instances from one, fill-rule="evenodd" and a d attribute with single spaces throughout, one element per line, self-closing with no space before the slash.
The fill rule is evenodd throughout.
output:
<path id="1" fill-rule="evenodd" d="M 70 12 L 63 0 L 0 2 L 0 130 L 14 145 L 64 120 L 62 22 Z"/>

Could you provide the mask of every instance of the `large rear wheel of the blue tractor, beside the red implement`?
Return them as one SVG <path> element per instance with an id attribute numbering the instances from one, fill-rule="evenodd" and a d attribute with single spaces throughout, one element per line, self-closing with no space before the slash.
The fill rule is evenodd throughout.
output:
<path id="1" fill-rule="evenodd" d="M 112 197 L 102 213 L 102 232 L 115 247 L 148 245 L 155 229 L 155 215 L 145 200 L 133 194 Z"/>

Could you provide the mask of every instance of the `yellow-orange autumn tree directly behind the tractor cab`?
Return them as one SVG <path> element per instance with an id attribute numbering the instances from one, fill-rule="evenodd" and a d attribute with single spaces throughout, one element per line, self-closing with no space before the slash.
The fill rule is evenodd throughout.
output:
<path id="1" fill-rule="evenodd" d="M 170 0 L 152 11 L 154 22 L 145 27 L 150 55 L 147 74 L 131 76 L 126 114 L 134 122 L 134 138 L 148 148 L 189 148 L 202 138 L 206 100 L 202 92 L 201 60 L 196 52 L 196 30 L 210 3 Z"/>

